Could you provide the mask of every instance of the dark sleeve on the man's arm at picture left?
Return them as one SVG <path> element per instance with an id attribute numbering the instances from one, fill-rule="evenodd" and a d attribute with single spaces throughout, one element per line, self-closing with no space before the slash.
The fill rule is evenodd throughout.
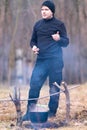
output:
<path id="1" fill-rule="evenodd" d="M 37 46 L 37 32 L 36 32 L 35 26 L 33 28 L 32 36 L 31 36 L 31 40 L 30 40 L 30 46 L 31 46 L 31 48 L 34 45 Z"/>

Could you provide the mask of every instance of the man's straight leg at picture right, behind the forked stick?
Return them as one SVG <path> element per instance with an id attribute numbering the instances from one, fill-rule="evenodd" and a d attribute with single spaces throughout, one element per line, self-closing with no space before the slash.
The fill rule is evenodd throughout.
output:
<path id="1" fill-rule="evenodd" d="M 62 81 L 62 68 L 58 68 L 58 62 L 55 61 L 52 62 L 52 66 L 51 66 L 51 70 L 49 71 L 49 86 L 50 86 L 50 94 L 54 94 L 57 92 L 60 92 L 60 89 L 53 85 L 54 82 L 57 82 L 58 85 L 61 84 Z M 49 114 L 51 115 L 55 115 L 57 112 L 57 108 L 59 105 L 59 96 L 58 95 L 54 95 L 54 96 L 50 96 L 50 100 L 49 100 Z"/>

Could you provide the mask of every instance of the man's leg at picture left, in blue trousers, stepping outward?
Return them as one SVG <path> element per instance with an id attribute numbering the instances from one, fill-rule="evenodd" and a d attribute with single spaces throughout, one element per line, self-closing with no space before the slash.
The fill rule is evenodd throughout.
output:
<path id="1" fill-rule="evenodd" d="M 47 66 L 45 62 L 38 61 L 32 72 L 28 99 L 38 98 L 41 87 L 47 78 Z M 28 100 L 27 111 L 23 121 L 29 120 L 29 108 L 37 103 L 37 100 Z M 32 105 L 33 104 L 33 105 Z"/>

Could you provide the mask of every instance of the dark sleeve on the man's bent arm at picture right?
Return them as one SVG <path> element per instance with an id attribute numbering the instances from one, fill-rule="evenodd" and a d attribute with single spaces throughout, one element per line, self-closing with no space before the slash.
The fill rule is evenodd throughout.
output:
<path id="1" fill-rule="evenodd" d="M 60 25 L 60 40 L 58 41 L 58 45 L 61 47 L 67 47 L 69 44 L 69 38 L 67 37 L 67 32 L 64 23 Z"/>

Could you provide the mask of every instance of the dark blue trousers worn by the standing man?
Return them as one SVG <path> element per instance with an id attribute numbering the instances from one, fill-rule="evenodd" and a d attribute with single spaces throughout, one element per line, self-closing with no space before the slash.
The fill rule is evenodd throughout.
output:
<path id="1" fill-rule="evenodd" d="M 56 59 L 45 59 L 37 60 L 34 70 L 32 72 L 31 81 L 30 81 L 30 90 L 29 90 L 29 99 L 38 98 L 40 90 L 49 77 L 49 86 L 50 94 L 59 92 L 60 89 L 53 85 L 54 82 L 57 82 L 59 85 L 62 81 L 62 65 Z M 28 107 L 31 103 L 37 103 L 36 100 L 29 100 Z M 59 103 L 59 95 L 50 96 L 49 109 L 50 111 L 56 113 Z"/>

